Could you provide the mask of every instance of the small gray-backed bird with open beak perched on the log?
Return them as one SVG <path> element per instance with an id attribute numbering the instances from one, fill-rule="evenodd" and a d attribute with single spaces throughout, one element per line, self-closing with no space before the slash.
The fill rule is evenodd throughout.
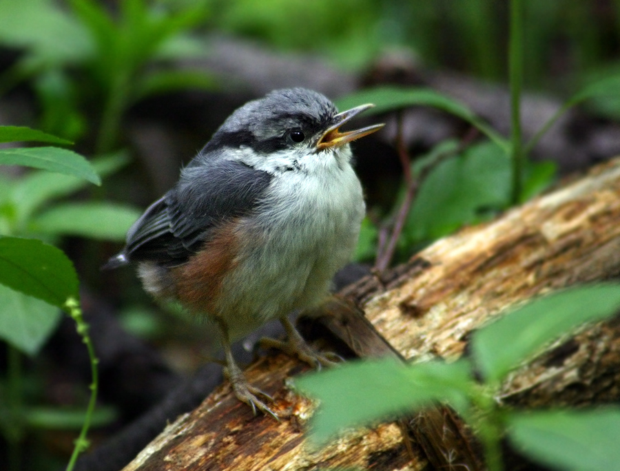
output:
<path id="1" fill-rule="evenodd" d="M 225 375 L 254 415 L 258 409 L 278 419 L 267 404 L 273 399 L 243 375 L 232 341 L 279 319 L 287 340 L 269 345 L 311 366 L 332 363 L 287 315 L 320 305 L 355 249 L 365 203 L 350 143 L 383 124 L 340 127 L 370 107 L 338 112 L 329 98 L 301 87 L 245 103 L 103 266 L 137 264 L 147 293 L 215 326 Z"/>

